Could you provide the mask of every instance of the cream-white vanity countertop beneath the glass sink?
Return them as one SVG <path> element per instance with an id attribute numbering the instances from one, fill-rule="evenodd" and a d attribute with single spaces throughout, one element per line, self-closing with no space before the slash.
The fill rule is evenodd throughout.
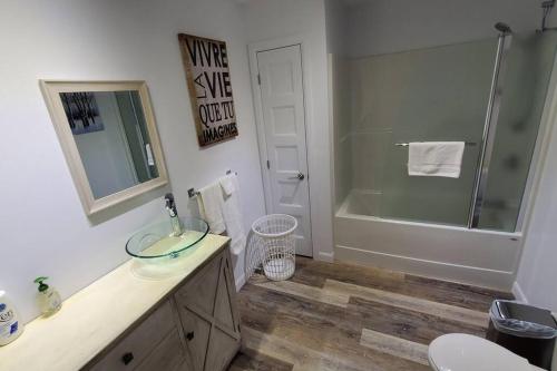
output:
<path id="1" fill-rule="evenodd" d="M 228 237 L 208 234 L 180 271 L 164 280 L 134 275 L 130 260 L 67 299 L 50 318 L 26 325 L 12 343 L 0 346 L 0 371 L 79 370 L 149 309 L 214 256 Z"/>

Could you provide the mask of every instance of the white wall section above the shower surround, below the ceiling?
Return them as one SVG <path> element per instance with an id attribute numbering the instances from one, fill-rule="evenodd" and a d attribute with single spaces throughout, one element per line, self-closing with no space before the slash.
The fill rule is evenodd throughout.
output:
<path id="1" fill-rule="evenodd" d="M 539 28 L 540 0 L 365 0 L 350 8 L 349 53 L 368 56 Z M 553 14 L 554 17 L 556 14 Z"/>

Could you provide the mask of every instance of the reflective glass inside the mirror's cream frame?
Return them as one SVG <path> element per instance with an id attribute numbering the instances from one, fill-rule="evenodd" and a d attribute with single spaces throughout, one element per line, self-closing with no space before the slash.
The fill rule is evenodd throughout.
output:
<path id="1" fill-rule="evenodd" d="M 95 199 L 158 177 L 137 90 L 60 92 Z"/>

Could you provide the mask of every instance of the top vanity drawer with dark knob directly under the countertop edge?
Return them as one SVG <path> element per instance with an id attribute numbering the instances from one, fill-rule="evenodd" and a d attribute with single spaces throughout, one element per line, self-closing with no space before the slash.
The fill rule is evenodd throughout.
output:
<path id="1" fill-rule="evenodd" d="M 170 302 L 166 302 L 117 343 L 91 370 L 135 370 L 174 328 Z"/>

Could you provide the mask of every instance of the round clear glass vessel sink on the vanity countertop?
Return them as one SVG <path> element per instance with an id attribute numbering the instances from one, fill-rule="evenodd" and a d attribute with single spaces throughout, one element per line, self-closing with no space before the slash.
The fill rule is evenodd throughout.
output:
<path id="1" fill-rule="evenodd" d="M 143 227 L 126 243 L 126 252 L 144 263 L 174 261 L 202 241 L 208 233 L 205 221 L 196 217 L 180 217 L 183 233 L 173 235 L 170 221 Z"/>

